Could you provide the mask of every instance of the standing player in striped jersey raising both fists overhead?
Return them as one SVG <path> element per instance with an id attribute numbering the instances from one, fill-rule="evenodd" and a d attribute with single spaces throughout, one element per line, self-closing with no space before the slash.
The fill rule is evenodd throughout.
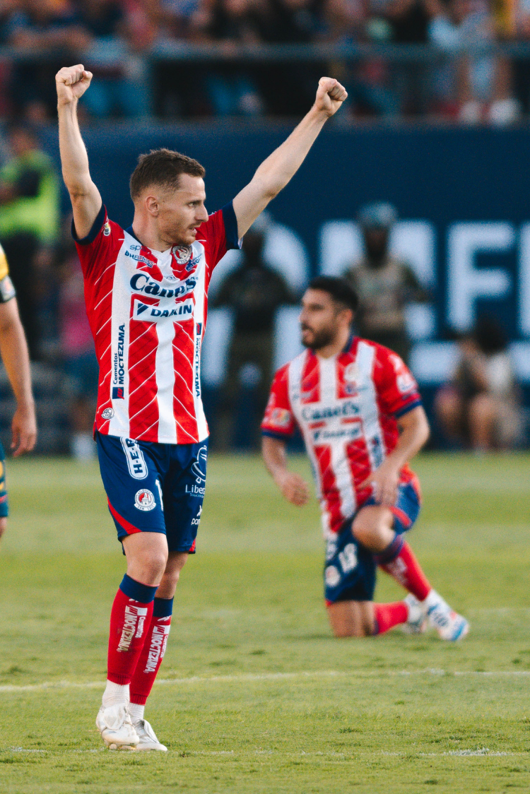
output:
<path id="1" fill-rule="evenodd" d="M 122 229 L 107 217 L 79 132 L 77 102 L 91 78 L 80 64 L 56 75 L 60 157 L 99 360 L 95 437 L 127 561 L 110 613 L 107 684 L 96 724 L 110 748 L 165 750 L 144 706 L 202 511 L 208 429 L 200 347 L 208 284 L 347 94 L 337 80 L 320 79 L 314 105 L 288 139 L 210 216 L 196 160 L 168 149 L 141 155 L 130 179 L 133 223 Z"/>

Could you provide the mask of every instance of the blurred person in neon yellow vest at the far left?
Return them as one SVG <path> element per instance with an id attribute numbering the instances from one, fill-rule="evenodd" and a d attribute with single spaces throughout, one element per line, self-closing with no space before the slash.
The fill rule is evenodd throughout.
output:
<path id="1" fill-rule="evenodd" d="M 52 159 L 41 151 L 28 126 L 8 130 L 12 157 L 0 169 L 0 242 L 10 263 L 22 325 L 33 360 L 40 355 L 38 266 L 56 242 L 59 183 Z"/>

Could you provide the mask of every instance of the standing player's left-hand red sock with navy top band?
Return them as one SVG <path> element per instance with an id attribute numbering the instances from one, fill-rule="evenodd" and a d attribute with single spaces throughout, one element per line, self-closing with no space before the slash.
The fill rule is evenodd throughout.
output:
<path id="1" fill-rule="evenodd" d="M 141 584 L 127 574 L 123 577 L 110 611 L 106 677 L 114 684 L 130 683 L 145 644 L 156 592 L 157 588 Z"/>

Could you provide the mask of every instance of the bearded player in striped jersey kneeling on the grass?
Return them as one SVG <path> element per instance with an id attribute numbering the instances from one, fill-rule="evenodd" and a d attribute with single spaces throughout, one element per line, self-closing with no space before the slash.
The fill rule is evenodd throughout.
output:
<path id="1" fill-rule="evenodd" d="M 382 634 L 427 621 L 444 640 L 469 624 L 431 588 L 404 533 L 420 511 L 408 461 L 429 434 L 416 381 L 382 345 L 355 337 L 358 298 L 344 279 L 319 276 L 302 299 L 307 350 L 278 370 L 261 429 L 263 456 L 284 497 L 296 505 L 308 485 L 287 468 L 285 446 L 298 425 L 315 473 L 327 539 L 325 595 L 336 637 Z M 380 565 L 410 595 L 373 603 Z"/>

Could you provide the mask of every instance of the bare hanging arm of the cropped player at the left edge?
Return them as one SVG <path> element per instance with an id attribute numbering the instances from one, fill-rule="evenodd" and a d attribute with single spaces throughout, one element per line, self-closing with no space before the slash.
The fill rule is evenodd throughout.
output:
<path id="1" fill-rule="evenodd" d="M 18 316 L 17 300 L 0 303 L 0 355 L 10 379 L 17 408 L 11 422 L 14 457 L 31 452 L 37 441 L 35 403 L 31 391 L 28 345 Z"/>

